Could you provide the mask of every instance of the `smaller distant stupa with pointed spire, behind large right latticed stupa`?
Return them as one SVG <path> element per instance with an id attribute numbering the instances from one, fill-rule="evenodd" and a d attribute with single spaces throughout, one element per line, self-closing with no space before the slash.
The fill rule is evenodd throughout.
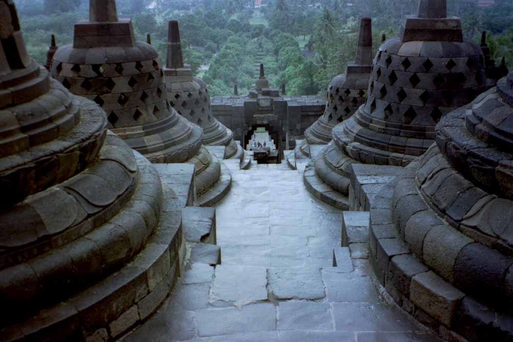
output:
<path id="1" fill-rule="evenodd" d="M 331 130 L 356 112 L 367 98 L 369 77 L 372 71 L 371 19 L 360 21 L 356 59 L 348 63 L 344 74 L 335 76 L 326 93 L 324 114 L 305 131 L 303 143 L 294 151 L 295 158 L 310 155 L 310 144 L 325 145 L 331 140 Z"/>

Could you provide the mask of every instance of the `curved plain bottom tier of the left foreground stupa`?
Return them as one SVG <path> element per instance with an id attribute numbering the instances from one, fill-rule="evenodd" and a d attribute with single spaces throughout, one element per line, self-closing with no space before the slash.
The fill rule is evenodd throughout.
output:
<path id="1" fill-rule="evenodd" d="M 138 158 L 139 169 L 143 162 Z M 134 198 L 146 198 L 145 185 Z M 135 205 L 135 204 L 134 204 Z M 0 341 L 107 341 L 148 318 L 166 299 L 185 257 L 179 198 L 168 189 L 160 223 L 132 261 L 67 300 L 0 331 Z"/>

